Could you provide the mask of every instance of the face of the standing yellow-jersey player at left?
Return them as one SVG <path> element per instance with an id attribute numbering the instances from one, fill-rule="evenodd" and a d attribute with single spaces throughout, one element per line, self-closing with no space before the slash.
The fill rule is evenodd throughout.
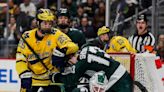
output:
<path id="1" fill-rule="evenodd" d="M 52 21 L 42 21 L 40 27 L 42 31 L 44 31 L 45 33 L 49 33 L 49 31 L 51 31 L 52 25 Z"/>

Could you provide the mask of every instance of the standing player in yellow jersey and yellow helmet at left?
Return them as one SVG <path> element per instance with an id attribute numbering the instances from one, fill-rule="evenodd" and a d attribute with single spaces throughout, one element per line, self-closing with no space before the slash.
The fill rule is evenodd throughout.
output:
<path id="1" fill-rule="evenodd" d="M 19 41 L 16 53 L 16 71 L 21 79 L 21 92 L 59 91 L 50 86 L 49 74 L 58 72 L 51 64 L 56 48 L 66 55 L 78 51 L 78 46 L 61 31 L 52 28 L 54 15 L 49 9 L 39 9 L 36 15 L 38 28 L 25 32 Z"/>

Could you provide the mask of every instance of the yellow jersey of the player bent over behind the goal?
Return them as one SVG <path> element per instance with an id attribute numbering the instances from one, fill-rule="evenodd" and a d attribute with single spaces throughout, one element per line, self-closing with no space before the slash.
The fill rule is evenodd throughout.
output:
<path id="1" fill-rule="evenodd" d="M 106 51 L 107 53 L 111 52 L 132 52 L 135 53 L 136 50 L 131 46 L 129 41 L 122 36 L 114 36 L 110 40 L 110 48 Z"/>

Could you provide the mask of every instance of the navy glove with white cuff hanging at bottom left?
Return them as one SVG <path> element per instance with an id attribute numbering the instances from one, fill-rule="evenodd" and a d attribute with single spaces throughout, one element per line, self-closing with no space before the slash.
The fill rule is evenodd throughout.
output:
<path id="1" fill-rule="evenodd" d="M 32 87 L 31 72 L 25 72 L 21 74 L 20 78 L 21 78 L 21 91 L 20 92 L 31 92 L 31 87 Z"/>

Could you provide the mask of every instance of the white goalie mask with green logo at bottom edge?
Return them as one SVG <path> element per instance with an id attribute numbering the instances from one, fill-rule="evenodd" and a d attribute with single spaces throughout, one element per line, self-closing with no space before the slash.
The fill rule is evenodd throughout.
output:
<path id="1" fill-rule="evenodd" d="M 95 73 L 89 81 L 90 92 L 105 92 L 108 83 L 105 72 L 100 71 Z"/>

